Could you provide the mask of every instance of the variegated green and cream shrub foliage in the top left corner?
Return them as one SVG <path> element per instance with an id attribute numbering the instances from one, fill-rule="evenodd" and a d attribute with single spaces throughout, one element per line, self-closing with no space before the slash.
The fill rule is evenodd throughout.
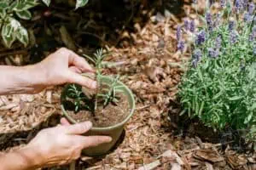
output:
<path id="1" fill-rule="evenodd" d="M 51 0 L 42 0 L 47 6 Z M 19 20 L 31 20 L 29 11 L 36 7 L 38 0 L 4 0 L 0 2 L 0 31 L 3 44 L 10 48 L 18 40 L 26 47 L 29 43 L 26 28 L 20 25 Z M 88 0 L 77 0 L 76 9 L 83 7 Z"/>

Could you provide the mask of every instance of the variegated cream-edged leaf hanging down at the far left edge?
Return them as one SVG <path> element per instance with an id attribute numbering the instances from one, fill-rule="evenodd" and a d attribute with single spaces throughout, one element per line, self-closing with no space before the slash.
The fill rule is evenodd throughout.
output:
<path id="1" fill-rule="evenodd" d="M 11 26 L 10 25 L 3 25 L 3 29 L 1 31 L 1 36 L 3 38 L 3 44 L 7 47 L 10 48 L 12 44 L 15 42 L 15 32 L 11 31 Z"/>

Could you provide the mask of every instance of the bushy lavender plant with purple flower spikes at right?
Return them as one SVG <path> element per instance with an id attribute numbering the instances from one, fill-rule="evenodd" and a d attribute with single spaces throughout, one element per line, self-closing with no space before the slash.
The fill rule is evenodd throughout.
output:
<path id="1" fill-rule="evenodd" d="M 199 117 L 214 129 L 243 129 L 247 139 L 256 141 L 255 4 L 220 0 L 218 7 L 216 13 L 207 5 L 196 31 L 191 21 L 177 29 L 181 52 L 180 32 L 192 32 L 194 39 L 188 71 L 179 87 L 182 113 Z"/>

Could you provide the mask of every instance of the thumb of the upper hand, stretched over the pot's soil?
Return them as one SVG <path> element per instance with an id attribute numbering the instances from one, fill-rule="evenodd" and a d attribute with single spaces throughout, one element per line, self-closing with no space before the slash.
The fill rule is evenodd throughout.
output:
<path id="1" fill-rule="evenodd" d="M 96 81 L 93 81 L 88 77 L 83 77 L 73 71 L 69 71 L 67 73 L 67 79 L 68 82 L 80 84 L 81 86 L 85 86 L 87 88 L 96 88 Z"/>

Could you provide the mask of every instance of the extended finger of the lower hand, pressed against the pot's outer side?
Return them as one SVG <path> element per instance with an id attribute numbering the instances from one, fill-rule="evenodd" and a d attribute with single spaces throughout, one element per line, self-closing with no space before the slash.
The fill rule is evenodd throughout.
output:
<path id="1" fill-rule="evenodd" d="M 99 144 L 109 143 L 112 141 L 112 138 L 109 136 L 79 136 L 77 141 L 80 142 L 79 144 L 82 148 L 89 148 Z"/>

